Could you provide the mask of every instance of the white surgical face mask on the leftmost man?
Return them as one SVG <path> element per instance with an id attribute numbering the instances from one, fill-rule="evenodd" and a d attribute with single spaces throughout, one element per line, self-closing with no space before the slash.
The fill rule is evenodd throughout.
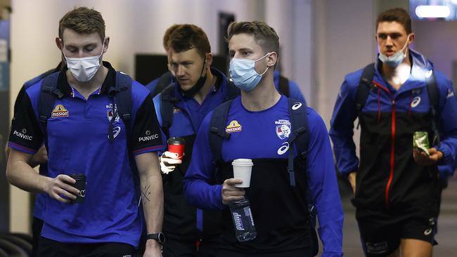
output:
<path id="1" fill-rule="evenodd" d="M 100 57 L 103 54 L 103 48 L 105 48 L 105 41 L 103 40 L 103 46 L 101 48 L 101 53 L 95 56 L 83 57 L 83 58 L 70 58 L 65 56 L 67 60 L 67 67 L 70 72 L 72 72 L 73 77 L 79 82 L 87 82 L 91 80 L 94 75 L 97 73 L 98 69 L 101 67 Z M 63 49 L 63 46 L 62 46 Z"/>

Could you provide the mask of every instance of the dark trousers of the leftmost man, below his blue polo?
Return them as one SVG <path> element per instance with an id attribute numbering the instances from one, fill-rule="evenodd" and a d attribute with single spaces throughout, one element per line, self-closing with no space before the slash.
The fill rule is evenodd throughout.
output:
<path id="1" fill-rule="evenodd" d="M 39 257 L 134 257 L 135 248 L 130 244 L 66 244 L 40 237 Z"/>

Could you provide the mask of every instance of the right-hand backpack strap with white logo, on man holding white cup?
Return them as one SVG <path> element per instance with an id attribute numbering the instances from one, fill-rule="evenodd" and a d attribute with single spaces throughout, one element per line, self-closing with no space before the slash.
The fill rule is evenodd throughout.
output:
<path id="1" fill-rule="evenodd" d="M 288 139 L 289 157 L 288 157 L 288 172 L 289 183 L 295 186 L 294 173 L 294 147 L 297 147 L 297 152 L 300 157 L 306 162 L 309 145 L 309 129 L 307 117 L 307 105 L 299 100 L 288 98 L 288 108 L 290 114 L 291 131 Z"/>

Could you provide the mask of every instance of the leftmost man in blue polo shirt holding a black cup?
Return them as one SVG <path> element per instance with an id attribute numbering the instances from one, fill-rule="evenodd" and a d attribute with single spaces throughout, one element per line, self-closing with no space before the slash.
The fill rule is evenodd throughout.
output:
<path id="1" fill-rule="evenodd" d="M 151 239 L 145 256 L 162 256 L 162 178 L 155 153 L 162 149 L 162 138 L 149 92 L 131 81 L 131 118 L 124 123 L 113 88 L 117 77 L 126 75 L 101 62 L 110 38 L 98 11 L 68 12 L 60 20 L 59 37 L 67 69 L 56 74 L 52 114 L 44 121 L 39 117 L 41 79 L 18 96 L 8 143 L 9 182 L 46 192 L 39 256 L 134 255 L 142 223 L 133 161 Z M 27 164 L 42 143 L 49 154 L 47 176 Z M 84 202 L 72 201 L 81 193 L 69 176 L 75 173 L 86 176 Z"/>

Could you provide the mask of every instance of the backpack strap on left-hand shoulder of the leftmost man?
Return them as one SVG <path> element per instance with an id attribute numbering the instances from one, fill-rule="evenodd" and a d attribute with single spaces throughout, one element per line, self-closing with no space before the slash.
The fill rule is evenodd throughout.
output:
<path id="1" fill-rule="evenodd" d="M 46 133 L 46 122 L 51 117 L 56 99 L 63 98 L 63 93 L 57 88 L 58 75 L 59 72 L 55 72 L 48 77 L 45 77 L 41 84 L 38 102 L 38 117 L 40 124 L 44 129 L 44 133 Z"/>

